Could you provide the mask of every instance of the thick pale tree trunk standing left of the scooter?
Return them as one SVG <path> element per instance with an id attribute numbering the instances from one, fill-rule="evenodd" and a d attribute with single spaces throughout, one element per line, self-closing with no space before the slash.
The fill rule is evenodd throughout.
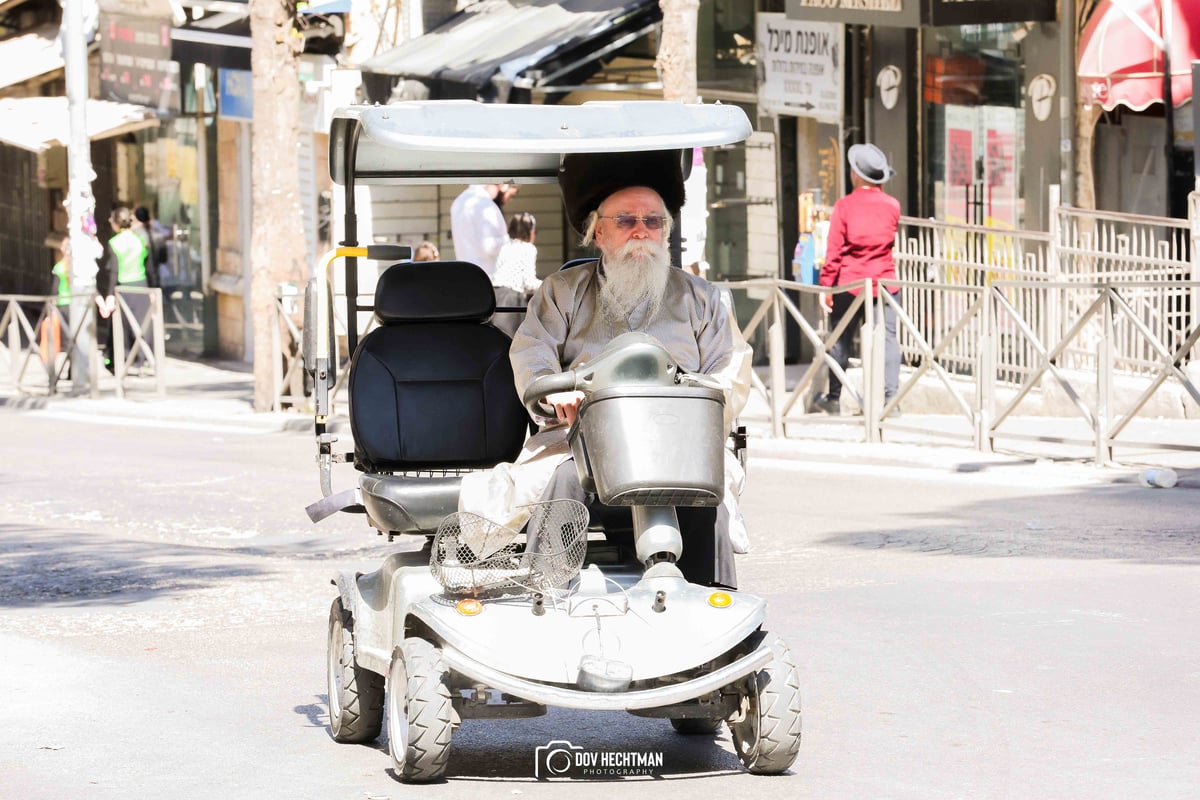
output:
<path id="1" fill-rule="evenodd" d="M 254 121 L 251 131 L 250 302 L 254 321 L 254 410 L 275 404 L 272 326 L 280 283 L 307 273 L 300 211 L 300 78 L 302 47 L 294 0 L 250 0 Z"/>

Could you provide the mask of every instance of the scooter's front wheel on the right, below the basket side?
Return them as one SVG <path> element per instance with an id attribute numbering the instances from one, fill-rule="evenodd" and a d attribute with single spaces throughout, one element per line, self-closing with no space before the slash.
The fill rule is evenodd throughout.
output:
<path id="1" fill-rule="evenodd" d="M 730 722 L 733 748 L 756 775 L 778 775 L 800 752 L 800 679 L 792 654 L 772 637 L 775 657 L 742 682 L 745 716 Z"/>

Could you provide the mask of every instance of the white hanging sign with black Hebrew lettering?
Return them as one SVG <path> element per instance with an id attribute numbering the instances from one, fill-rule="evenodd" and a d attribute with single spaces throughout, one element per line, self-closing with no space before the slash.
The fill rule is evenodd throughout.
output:
<path id="1" fill-rule="evenodd" d="M 758 14 L 758 103 L 768 114 L 841 120 L 842 26 Z"/>

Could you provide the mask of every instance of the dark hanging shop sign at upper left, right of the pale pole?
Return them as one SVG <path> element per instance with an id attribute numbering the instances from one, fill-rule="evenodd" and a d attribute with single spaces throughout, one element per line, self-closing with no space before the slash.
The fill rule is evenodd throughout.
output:
<path id="1" fill-rule="evenodd" d="M 179 112 L 179 64 L 170 60 L 166 17 L 102 14 L 100 92 L 104 100 Z"/>

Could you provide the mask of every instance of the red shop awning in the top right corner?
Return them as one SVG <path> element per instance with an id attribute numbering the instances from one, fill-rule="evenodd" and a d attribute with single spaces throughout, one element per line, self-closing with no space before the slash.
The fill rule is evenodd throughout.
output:
<path id="1" fill-rule="evenodd" d="M 1171 100 L 1192 97 L 1200 59 L 1200 0 L 1100 0 L 1079 40 L 1079 94 L 1105 110 L 1163 102 L 1163 6 L 1171 17 Z"/>

